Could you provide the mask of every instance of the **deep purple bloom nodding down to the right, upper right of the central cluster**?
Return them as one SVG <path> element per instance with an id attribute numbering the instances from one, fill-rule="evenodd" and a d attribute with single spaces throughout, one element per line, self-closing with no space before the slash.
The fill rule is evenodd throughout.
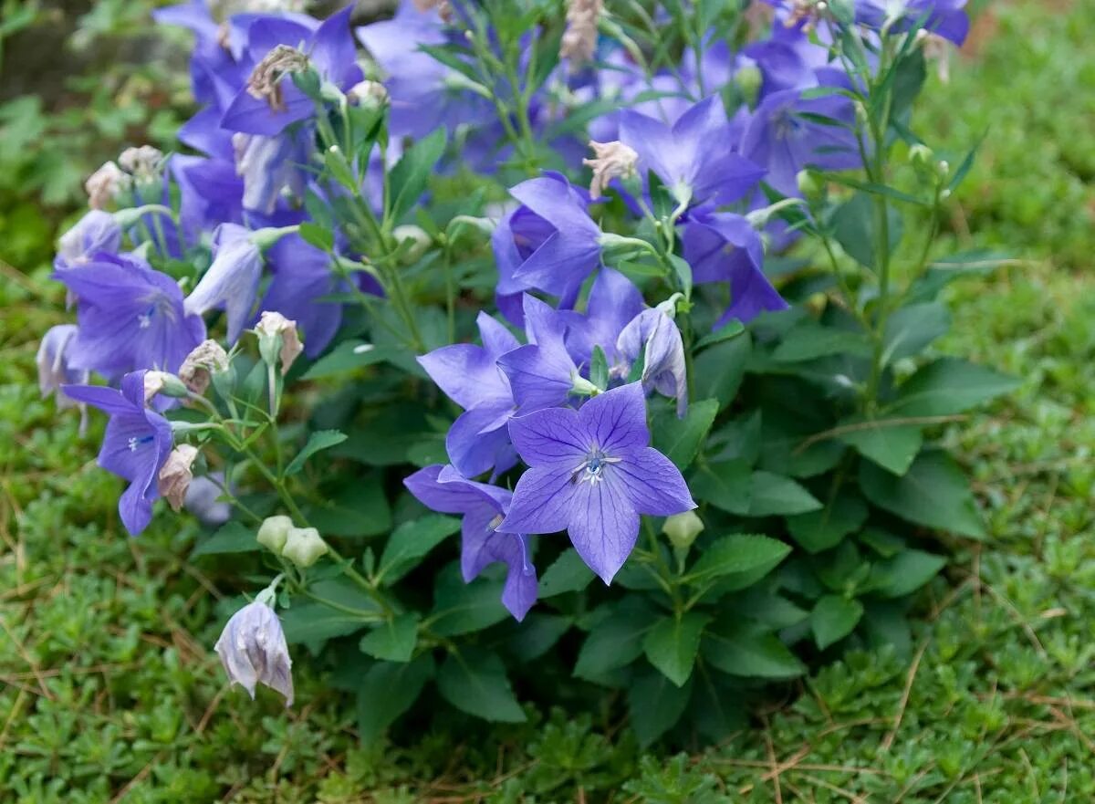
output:
<path id="1" fill-rule="evenodd" d="M 742 323 L 765 311 L 786 310 L 787 302 L 764 276 L 764 246 L 748 220 L 733 213 L 693 216 L 681 237 L 684 259 L 699 283 L 726 282 L 730 306 L 716 326 L 730 319 Z"/>

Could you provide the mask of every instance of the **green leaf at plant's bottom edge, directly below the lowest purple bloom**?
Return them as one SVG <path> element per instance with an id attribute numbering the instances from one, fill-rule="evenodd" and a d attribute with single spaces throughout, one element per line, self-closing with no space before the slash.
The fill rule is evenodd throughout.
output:
<path id="1" fill-rule="evenodd" d="M 496 654 L 469 648 L 450 655 L 437 674 L 437 689 L 453 707 L 476 717 L 499 723 L 526 720 Z"/>

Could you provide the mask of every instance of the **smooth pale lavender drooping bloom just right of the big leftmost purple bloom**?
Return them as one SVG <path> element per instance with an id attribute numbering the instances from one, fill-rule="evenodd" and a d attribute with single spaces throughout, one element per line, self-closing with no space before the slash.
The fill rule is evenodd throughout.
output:
<path id="1" fill-rule="evenodd" d="M 194 315 L 223 308 L 228 314 L 228 341 L 235 343 L 255 306 L 263 255 L 251 232 L 235 223 L 221 223 L 217 228 L 212 248 L 212 265 L 186 297 L 183 308 Z"/>

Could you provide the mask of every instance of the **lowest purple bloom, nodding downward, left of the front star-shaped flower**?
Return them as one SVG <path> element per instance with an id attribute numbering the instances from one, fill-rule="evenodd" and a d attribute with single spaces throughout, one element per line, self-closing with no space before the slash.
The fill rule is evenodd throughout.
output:
<path id="1" fill-rule="evenodd" d="M 505 489 L 466 480 L 453 467 L 420 469 L 403 481 L 423 505 L 442 514 L 462 514 L 460 572 L 471 582 L 496 561 L 506 564 L 502 602 L 523 620 L 537 601 L 537 571 L 529 561 L 528 537 L 496 530 L 509 509 Z"/>

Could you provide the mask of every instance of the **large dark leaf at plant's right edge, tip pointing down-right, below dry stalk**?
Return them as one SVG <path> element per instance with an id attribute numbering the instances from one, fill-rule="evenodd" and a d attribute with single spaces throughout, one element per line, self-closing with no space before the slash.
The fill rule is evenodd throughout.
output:
<path id="1" fill-rule="evenodd" d="M 922 452 L 901 478 L 863 462 L 860 487 L 871 503 L 910 522 L 970 539 L 986 537 L 966 475 L 946 452 Z"/>

